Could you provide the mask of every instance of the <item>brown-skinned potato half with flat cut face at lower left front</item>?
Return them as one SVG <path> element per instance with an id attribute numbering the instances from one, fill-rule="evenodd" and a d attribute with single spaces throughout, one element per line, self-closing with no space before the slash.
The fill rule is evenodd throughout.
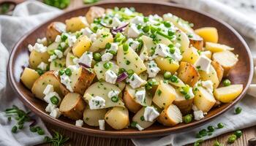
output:
<path id="1" fill-rule="evenodd" d="M 72 95 L 73 94 L 73 95 Z M 77 97 L 77 99 L 73 98 L 74 96 Z M 69 107 L 71 109 L 66 110 L 64 107 L 66 102 L 65 100 L 75 99 L 77 100 L 75 104 L 73 104 L 73 107 Z M 68 102 L 68 101 L 67 101 Z M 83 110 L 86 108 L 86 103 L 83 101 L 82 96 L 78 93 L 68 93 L 64 99 L 61 101 L 61 105 L 59 106 L 59 110 L 61 113 L 66 116 L 67 118 L 70 118 L 72 120 L 79 120 L 83 118 Z"/>

